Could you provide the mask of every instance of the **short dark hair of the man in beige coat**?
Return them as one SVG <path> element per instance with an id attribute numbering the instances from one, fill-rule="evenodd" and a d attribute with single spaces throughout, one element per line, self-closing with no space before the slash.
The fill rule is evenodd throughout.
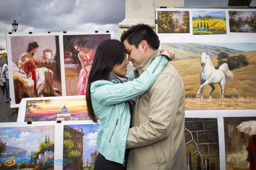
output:
<path id="1" fill-rule="evenodd" d="M 124 40 L 127 40 L 130 45 L 134 45 L 137 49 L 142 40 L 147 41 L 148 46 L 154 50 L 157 50 L 160 45 L 155 31 L 149 25 L 142 23 L 124 31 L 121 35 L 121 42 L 124 42 Z"/>

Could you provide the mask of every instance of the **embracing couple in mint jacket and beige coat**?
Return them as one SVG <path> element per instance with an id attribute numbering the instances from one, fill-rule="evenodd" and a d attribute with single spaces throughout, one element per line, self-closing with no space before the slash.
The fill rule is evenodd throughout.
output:
<path id="1" fill-rule="evenodd" d="M 184 85 L 173 51 L 159 45 L 144 24 L 99 44 L 86 90 L 88 114 L 101 122 L 94 169 L 186 169 Z"/>

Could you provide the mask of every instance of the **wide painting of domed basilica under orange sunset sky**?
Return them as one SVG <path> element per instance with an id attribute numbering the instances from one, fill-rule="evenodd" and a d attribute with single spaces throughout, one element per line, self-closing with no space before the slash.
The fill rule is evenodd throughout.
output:
<path id="1" fill-rule="evenodd" d="M 20 114 L 20 113 L 19 113 Z M 27 100 L 24 122 L 90 120 L 85 96 Z"/>

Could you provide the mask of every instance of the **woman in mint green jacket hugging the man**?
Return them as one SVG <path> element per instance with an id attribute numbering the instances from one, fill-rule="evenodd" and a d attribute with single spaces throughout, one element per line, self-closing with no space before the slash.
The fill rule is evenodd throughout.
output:
<path id="1" fill-rule="evenodd" d="M 165 50 L 164 54 L 168 52 Z M 99 44 L 86 92 L 88 114 L 93 122 L 97 122 L 97 118 L 101 122 L 94 169 L 126 169 L 125 145 L 134 98 L 149 89 L 167 63 L 165 57 L 158 56 L 139 78 L 135 79 L 133 72 L 125 77 L 128 61 L 124 44 L 118 40 Z"/>

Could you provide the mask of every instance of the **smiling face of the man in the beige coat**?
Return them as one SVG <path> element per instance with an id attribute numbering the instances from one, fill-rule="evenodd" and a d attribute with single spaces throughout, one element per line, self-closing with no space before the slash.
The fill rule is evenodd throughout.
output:
<path id="1" fill-rule="evenodd" d="M 135 70 L 138 71 L 138 66 L 145 60 L 145 53 L 142 46 L 139 44 L 139 48 L 137 49 L 135 45 L 130 45 L 127 40 L 124 40 L 124 48 L 126 54 L 128 54 L 128 61 L 131 61 Z"/>

